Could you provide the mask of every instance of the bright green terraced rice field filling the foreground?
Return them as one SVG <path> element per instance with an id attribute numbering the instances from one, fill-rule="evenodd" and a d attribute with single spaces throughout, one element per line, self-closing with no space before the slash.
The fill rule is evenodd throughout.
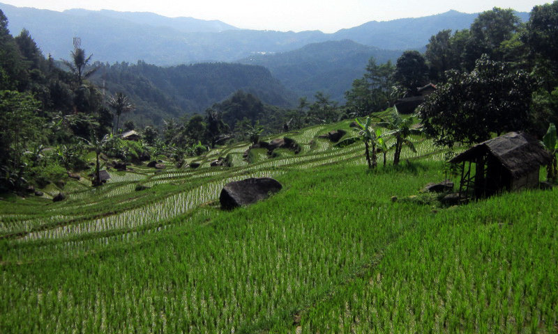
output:
<path id="1" fill-rule="evenodd" d="M 557 191 L 392 202 L 443 180 L 444 150 L 414 138 L 402 166 L 369 171 L 361 144 L 316 138 L 347 125 L 285 134 L 296 155 L 1 201 L 0 333 L 557 332 Z M 220 210 L 250 176 L 284 188 Z"/>

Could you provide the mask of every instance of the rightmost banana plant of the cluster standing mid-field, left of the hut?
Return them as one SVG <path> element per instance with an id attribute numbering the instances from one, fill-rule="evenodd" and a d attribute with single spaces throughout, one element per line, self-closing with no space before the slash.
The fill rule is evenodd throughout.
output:
<path id="1" fill-rule="evenodd" d="M 412 134 L 421 134 L 420 129 L 413 129 L 413 118 L 402 118 L 397 112 L 397 109 L 393 109 L 391 116 L 387 120 L 382 120 L 378 125 L 380 127 L 386 127 L 391 130 L 384 134 L 384 136 L 393 136 L 395 138 L 395 152 L 393 153 L 393 166 L 397 166 L 400 161 L 401 151 L 403 145 L 407 145 L 413 152 L 416 152 L 414 145 L 408 136 Z"/>

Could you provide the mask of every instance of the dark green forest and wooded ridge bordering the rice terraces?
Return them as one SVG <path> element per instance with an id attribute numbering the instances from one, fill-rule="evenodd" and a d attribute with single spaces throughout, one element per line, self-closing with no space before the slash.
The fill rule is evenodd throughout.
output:
<path id="1" fill-rule="evenodd" d="M 126 161 L 165 154 L 179 163 L 225 141 L 369 116 L 430 82 L 437 89 L 416 111 L 439 145 L 511 130 L 541 138 L 558 118 L 557 1 L 536 6 L 525 24 L 511 9 L 488 10 L 469 29 L 432 35 L 423 54 L 405 51 L 395 63 L 370 58 L 345 105 L 317 91 L 293 108 L 294 95 L 263 67 L 108 65 L 80 48 L 61 64 L 28 31 L 10 35 L 3 13 L 0 24 L 4 190 L 88 168 L 88 152 Z M 142 141 L 117 136 L 132 129 Z"/>

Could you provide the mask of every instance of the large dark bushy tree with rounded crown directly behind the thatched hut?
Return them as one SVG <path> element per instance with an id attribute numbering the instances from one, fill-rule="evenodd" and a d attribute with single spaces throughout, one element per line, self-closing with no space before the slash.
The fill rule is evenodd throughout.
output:
<path id="1" fill-rule="evenodd" d="M 533 79 L 481 56 L 470 73 L 451 70 L 446 83 L 418 106 L 424 132 L 439 145 L 478 143 L 492 132 L 528 129 Z"/>

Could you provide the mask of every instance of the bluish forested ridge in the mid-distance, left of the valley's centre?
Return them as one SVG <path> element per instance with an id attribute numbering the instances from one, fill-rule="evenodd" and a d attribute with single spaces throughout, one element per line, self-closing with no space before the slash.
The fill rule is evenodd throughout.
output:
<path id="1" fill-rule="evenodd" d="M 96 72 L 91 83 L 104 87 L 106 93 L 125 93 L 134 102 L 135 109 L 127 118 L 136 125 L 160 127 L 165 119 L 202 113 L 238 90 L 276 106 L 287 107 L 296 102 L 296 95 L 261 66 L 201 63 L 158 67 L 138 61 L 93 63 L 92 67 Z"/>

